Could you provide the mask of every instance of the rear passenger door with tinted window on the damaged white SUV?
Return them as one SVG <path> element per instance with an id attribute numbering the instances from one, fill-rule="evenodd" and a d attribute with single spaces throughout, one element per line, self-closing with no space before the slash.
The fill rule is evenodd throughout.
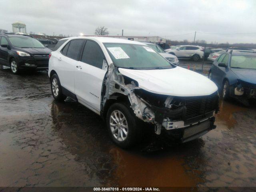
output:
<path id="1" fill-rule="evenodd" d="M 60 84 L 68 91 L 75 92 L 75 68 L 78 63 L 84 39 L 71 40 L 57 55 Z"/>

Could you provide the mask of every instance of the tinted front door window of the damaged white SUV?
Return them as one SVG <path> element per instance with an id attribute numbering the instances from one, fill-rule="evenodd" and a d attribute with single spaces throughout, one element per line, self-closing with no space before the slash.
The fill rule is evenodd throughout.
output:
<path id="1" fill-rule="evenodd" d="M 93 41 L 86 41 L 82 55 L 82 62 L 102 69 L 104 55 L 98 44 Z"/>

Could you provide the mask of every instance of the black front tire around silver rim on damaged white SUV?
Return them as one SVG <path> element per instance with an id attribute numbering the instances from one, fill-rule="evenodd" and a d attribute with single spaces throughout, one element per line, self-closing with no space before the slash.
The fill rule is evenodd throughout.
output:
<path id="1" fill-rule="evenodd" d="M 122 113 L 122 115 L 126 119 L 126 124 L 128 127 L 127 136 L 123 141 L 118 140 L 118 138 L 116 138 L 116 136 L 114 136 L 114 134 L 118 135 L 119 132 L 122 132 L 122 130 L 121 130 L 122 128 L 118 128 L 118 126 L 110 126 L 111 121 L 114 123 L 114 120 L 111 120 L 112 119 L 111 115 L 116 111 L 120 111 Z M 136 118 L 134 112 L 125 103 L 114 103 L 110 106 L 110 108 L 108 109 L 107 115 L 106 115 L 106 123 L 107 123 L 110 138 L 116 145 L 120 146 L 121 148 L 130 148 L 130 147 L 134 146 L 141 137 L 142 122 L 140 122 L 138 120 L 138 118 Z M 116 125 L 117 125 L 117 123 L 116 123 Z M 117 132 L 115 131 L 112 133 L 113 129 L 117 130 Z M 122 134 L 124 134 L 124 133 L 122 133 Z M 120 138 L 120 139 L 122 139 L 122 138 Z"/>

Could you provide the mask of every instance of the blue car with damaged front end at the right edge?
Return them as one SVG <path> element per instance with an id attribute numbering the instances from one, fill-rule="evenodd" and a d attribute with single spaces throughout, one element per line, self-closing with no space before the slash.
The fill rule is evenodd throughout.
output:
<path id="1" fill-rule="evenodd" d="M 213 62 L 209 78 L 225 100 L 233 97 L 248 103 L 256 98 L 256 54 L 235 50 L 222 53 Z"/>

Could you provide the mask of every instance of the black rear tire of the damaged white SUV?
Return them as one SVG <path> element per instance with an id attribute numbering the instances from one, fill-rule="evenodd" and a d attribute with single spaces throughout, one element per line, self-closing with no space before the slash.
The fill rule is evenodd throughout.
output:
<path id="1" fill-rule="evenodd" d="M 56 88 L 58 88 L 58 91 Z M 67 98 L 67 96 L 62 93 L 60 80 L 57 74 L 51 76 L 51 91 L 53 98 L 57 101 L 64 101 Z"/>

